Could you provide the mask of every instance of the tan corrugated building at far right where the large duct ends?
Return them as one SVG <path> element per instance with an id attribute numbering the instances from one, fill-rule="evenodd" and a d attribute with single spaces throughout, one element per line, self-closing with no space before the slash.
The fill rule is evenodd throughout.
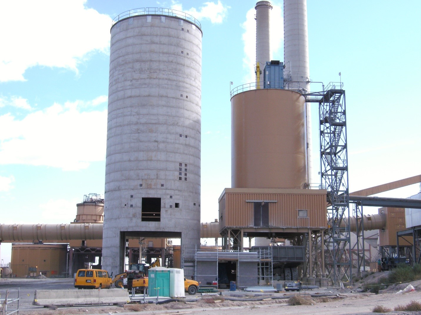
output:
<path id="1" fill-rule="evenodd" d="M 379 244 L 384 246 L 397 246 L 396 233 L 405 230 L 405 209 L 383 207 L 378 209 L 378 213 L 384 212 L 386 215 L 386 227 L 380 230 Z M 399 238 L 400 246 L 411 246 L 412 237 L 404 236 Z"/>

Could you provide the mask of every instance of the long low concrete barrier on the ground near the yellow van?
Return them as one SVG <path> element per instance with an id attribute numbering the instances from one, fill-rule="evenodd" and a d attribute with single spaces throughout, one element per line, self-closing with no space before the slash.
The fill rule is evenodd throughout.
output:
<path id="1" fill-rule="evenodd" d="M 126 304 L 129 292 L 123 289 L 35 290 L 33 305 L 64 306 L 91 304 Z"/>

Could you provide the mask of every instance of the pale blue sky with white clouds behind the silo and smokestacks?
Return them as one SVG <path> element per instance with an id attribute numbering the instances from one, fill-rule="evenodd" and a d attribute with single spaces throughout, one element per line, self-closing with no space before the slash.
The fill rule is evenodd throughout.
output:
<path id="1" fill-rule="evenodd" d="M 283 1 L 271 2 L 272 59 L 283 61 Z M 201 220 L 215 220 L 218 197 L 231 186 L 229 91 L 255 81 L 255 4 L 0 1 L 7 13 L 0 19 L 0 224 L 69 223 L 85 194 L 104 194 L 109 30 L 115 16 L 143 7 L 184 11 L 202 25 Z M 421 2 L 308 0 L 307 11 L 311 90 L 321 90 L 319 81 L 344 82 L 349 190 L 421 174 Z M 379 196 L 419 191 L 416 184 Z M 2 263 L 10 248 L 1 245 Z"/>

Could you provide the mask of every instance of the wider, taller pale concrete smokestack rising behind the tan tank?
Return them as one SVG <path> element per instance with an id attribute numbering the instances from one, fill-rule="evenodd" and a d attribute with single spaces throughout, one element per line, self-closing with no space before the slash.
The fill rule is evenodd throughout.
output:
<path id="1" fill-rule="evenodd" d="M 301 88 L 310 91 L 309 36 L 307 29 L 307 0 L 284 0 L 284 63 L 285 74 L 291 81 L 300 82 Z M 307 82 L 307 83 L 306 83 Z M 307 164 L 309 182 L 312 179 L 311 108 L 306 106 Z"/>

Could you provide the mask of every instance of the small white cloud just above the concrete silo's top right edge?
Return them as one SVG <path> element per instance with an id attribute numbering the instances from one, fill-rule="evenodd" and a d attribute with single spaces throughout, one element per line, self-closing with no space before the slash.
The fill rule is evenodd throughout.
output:
<path id="1" fill-rule="evenodd" d="M 226 17 L 226 13 L 229 7 L 228 5 L 223 5 L 221 1 L 218 0 L 218 3 L 214 2 L 205 2 L 203 6 L 200 7 L 198 10 L 196 8 L 190 8 L 188 10 L 183 10 L 183 6 L 181 3 L 177 1 L 172 1 L 171 8 L 178 11 L 183 11 L 185 13 L 190 14 L 197 20 L 208 19 L 211 23 L 222 23 L 224 18 Z"/>

